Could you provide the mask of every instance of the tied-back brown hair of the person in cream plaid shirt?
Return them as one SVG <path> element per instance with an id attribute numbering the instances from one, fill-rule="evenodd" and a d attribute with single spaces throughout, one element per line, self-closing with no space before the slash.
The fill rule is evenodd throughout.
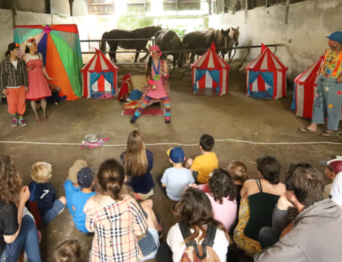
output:
<path id="1" fill-rule="evenodd" d="M 124 167 L 116 159 L 107 159 L 98 169 L 98 184 L 101 192 L 114 200 L 122 200 L 122 185 L 126 176 Z"/>

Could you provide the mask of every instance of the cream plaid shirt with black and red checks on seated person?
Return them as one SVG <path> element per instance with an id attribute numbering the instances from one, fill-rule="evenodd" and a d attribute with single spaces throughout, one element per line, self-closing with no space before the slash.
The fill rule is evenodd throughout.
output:
<path id="1" fill-rule="evenodd" d="M 140 262 L 137 236 L 145 235 L 147 222 L 134 198 L 116 201 L 96 194 L 83 209 L 86 228 L 95 232 L 90 262 Z M 142 254 L 141 254 L 142 257 Z"/>

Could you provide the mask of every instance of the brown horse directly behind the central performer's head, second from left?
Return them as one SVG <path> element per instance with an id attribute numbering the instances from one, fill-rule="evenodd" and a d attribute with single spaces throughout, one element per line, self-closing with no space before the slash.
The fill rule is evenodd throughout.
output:
<path id="1" fill-rule="evenodd" d="M 155 34 L 155 44 L 160 47 L 161 52 L 163 51 L 181 51 L 187 48 L 187 44 L 183 44 L 179 36 L 175 31 L 172 30 L 161 30 Z M 179 68 L 183 67 L 184 53 L 168 53 L 173 56 L 172 60 L 172 71 L 176 68 L 176 63 Z M 163 59 L 168 57 L 166 54 L 162 54 Z M 171 71 L 171 73 L 172 73 Z M 170 73 L 170 74 L 171 74 Z"/>

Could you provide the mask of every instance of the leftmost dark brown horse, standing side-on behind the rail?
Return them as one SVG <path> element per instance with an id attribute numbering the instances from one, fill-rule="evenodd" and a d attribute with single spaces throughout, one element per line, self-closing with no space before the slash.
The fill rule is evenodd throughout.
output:
<path id="1" fill-rule="evenodd" d="M 101 38 L 101 51 L 105 51 L 106 49 L 106 41 L 104 39 L 136 39 L 107 41 L 109 45 L 109 51 L 116 51 L 118 47 L 121 47 L 123 49 L 135 49 L 136 51 L 147 51 L 146 55 L 140 58 L 140 61 L 145 60 L 148 56 L 148 49 L 146 48 L 148 40 L 139 40 L 139 38 L 152 38 L 159 30 L 162 30 L 160 25 L 151 25 L 149 27 L 138 28 L 133 31 L 114 29 L 109 32 L 105 32 Z M 117 63 L 116 53 L 109 53 L 109 57 L 111 58 L 111 60 L 114 60 L 114 63 Z M 139 57 L 139 53 L 135 53 L 135 63 L 137 62 L 137 57 Z"/>

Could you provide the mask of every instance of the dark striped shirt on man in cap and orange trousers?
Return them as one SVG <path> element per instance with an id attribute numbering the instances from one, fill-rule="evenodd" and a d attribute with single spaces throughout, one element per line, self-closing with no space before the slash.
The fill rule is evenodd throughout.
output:
<path id="1" fill-rule="evenodd" d="M 29 86 L 25 62 L 20 58 L 18 58 L 17 68 L 14 68 L 10 58 L 3 60 L 0 65 L 1 90 L 11 86 Z"/>

